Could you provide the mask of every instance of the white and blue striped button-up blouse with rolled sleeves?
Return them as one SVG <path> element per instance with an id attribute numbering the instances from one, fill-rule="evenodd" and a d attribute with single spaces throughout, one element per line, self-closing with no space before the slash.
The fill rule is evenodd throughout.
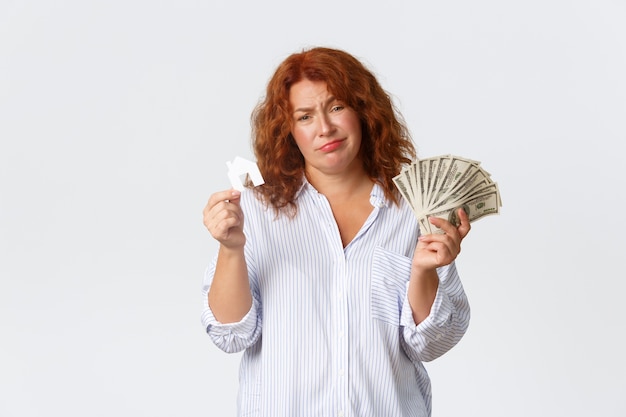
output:
<path id="1" fill-rule="evenodd" d="M 373 211 L 344 248 L 328 201 L 307 182 L 294 219 L 276 218 L 242 193 L 253 305 L 238 323 L 215 319 L 207 300 L 215 260 L 202 294 L 213 342 L 245 349 L 240 417 L 430 416 L 422 362 L 461 339 L 469 304 L 454 263 L 439 268 L 430 315 L 415 325 L 406 293 L 416 217 L 378 185 L 370 202 Z"/>

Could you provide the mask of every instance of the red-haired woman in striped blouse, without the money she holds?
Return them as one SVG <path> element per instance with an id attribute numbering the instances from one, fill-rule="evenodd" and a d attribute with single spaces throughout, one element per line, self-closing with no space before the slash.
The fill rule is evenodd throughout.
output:
<path id="1" fill-rule="evenodd" d="M 350 54 L 283 61 L 253 113 L 265 184 L 214 193 L 219 242 L 202 322 L 243 351 L 240 416 L 429 416 L 422 365 L 469 322 L 454 260 L 463 210 L 420 235 L 392 178 L 415 157 L 401 116 Z M 245 216 L 245 217 L 244 217 Z M 245 220 L 244 220 L 245 218 Z"/>

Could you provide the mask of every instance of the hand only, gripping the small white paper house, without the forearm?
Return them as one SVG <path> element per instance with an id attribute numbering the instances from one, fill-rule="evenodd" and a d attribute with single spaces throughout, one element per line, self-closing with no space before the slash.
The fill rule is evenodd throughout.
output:
<path id="1" fill-rule="evenodd" d="M 246 243 L 240 197 L 241 193 L 234 189 L 218 191 L 211 195 L 202 211 L 206 228 L 228 249 L 242 248 Z"/>

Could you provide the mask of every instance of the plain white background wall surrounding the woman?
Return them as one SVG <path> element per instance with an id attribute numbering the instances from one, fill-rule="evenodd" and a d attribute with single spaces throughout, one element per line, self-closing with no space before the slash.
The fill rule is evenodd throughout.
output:
<path id="1" fill-rule="evenodd" d="M 434 416 L 626 415 L 624 22 L 618 0 L 0 0 L 0 415 L 234 416 L 201 210 L 312 45 L 502 193 L 458 260 L 472 323 L 427 364 Z"/>

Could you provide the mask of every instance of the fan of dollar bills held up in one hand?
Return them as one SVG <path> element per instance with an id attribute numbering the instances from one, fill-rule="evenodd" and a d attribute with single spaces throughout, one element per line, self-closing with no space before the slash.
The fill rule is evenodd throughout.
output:
<path id="1" fill-rule="evenodd" d="M 409 202 L 423 234 L 443 233 L 430 224 L 440 217 L 457 226 L 457 211 L 462 208 L 470 222 L 498 214 L 502 201 L 498 185 L 480 162 L 454 155 L 419 159 L 393 178 Z"/>

